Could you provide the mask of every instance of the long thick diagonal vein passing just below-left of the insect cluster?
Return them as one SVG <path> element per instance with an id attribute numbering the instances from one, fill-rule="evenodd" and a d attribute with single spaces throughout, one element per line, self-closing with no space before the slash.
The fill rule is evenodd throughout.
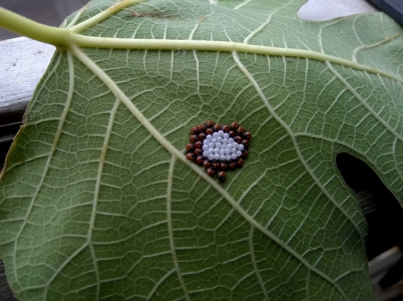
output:
<path id="1" fill-rule="evenodd" d="M 303 259 L 295 250 L 291 249 L 287 244 L 285 244 L 282 240 L 280 240 L 277 236 L 275 236 L 271 231 L 268 231 L 264 228 L 260 223 L 258 223 L 253 217 L 251 217 L 235 200 L 234 198 L 226 191 L 219 183 L 214 181 L 210 176 L 208 176 L 202 169 L 196 166 L 194 163 L 191 163 L 186 157 L 179 152 L 165 137 L 157 131 L 157 129 L 150 123 L 149 120 L 139 111 L 139 109 L 128 99 L 128 97 L 119 89 L 119 87 L 108 77 L 108 75 L 88 56 L 84 54 L 79 48 L 74 47 L 74 54 L 78 59 L 80 59 L 83 64 L 85 64 L 109 89 L 110 91 L 118 98 L 120 101 L 127 107 L 127 109 L 133 114 L 134 117 L 139 120 L 139 122 L 148 130 L 148 132 L 163 146 L 165 147 L 169 153 L 175 156 L 177 159 L 182 161 L 188 168 L 194 171 L 200 178 L 203 178 L 213 189 L 215 189 L 221 196 L 228 201 L 228 203 L 248 222 L 252 227 L 259 230 L 268 238 L 272 239 L 276 242 L 281 248 L 283 248 L 286 252 L 290 253 L 291 256 L 297 258 L 302 264 L 304 264 L 309 270 L 316 273 L 332 285 L 339 291 L 339 293 L 343 296 L 344 299 L 347 299 L 346 294 L 340 288 L 337 283 L 334 283 L 332 279 L 330 279 L 327 275 L 312 267 L 305 259 Z M 250 74 L 249 74 L 250 76 Z M 283 122 L 284 123 L 284 122 Z M 306 163 L 305 163 L 306 165 Z M 307 168 L 307 166 L 305 166 Z M 336 204 L 337 205 L 337 204 Z"/>

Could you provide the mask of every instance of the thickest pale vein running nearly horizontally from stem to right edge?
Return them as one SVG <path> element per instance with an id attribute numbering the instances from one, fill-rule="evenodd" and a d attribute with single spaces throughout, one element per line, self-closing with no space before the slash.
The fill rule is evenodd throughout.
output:
<path id="1" fill-rule="evenodd" d="M 351 60 L 320 53 L 312 50 L 259 46 L 237 42 L 205 41 L 205 40 L 168 40 L 168 39 L 124 39 L 89 37 L 71 34 L 72 47 L 118 48 L 118 49 L 150 49 L 150 50 L 205 50 L 220 52 L 247 52 L 263 55 L 292 56 L 310 58 L 318 61 L 329 61 L 353 69 L 381 74 L 403 84 L 403 79 L 371 66 L 359 64 Z"/>

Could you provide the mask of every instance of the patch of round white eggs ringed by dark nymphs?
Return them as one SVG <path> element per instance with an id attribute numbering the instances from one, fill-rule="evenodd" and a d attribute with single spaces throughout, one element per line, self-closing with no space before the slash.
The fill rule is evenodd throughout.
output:
<path id="1" fill-rule="evenodd" d="M 206 136 L 203 140 L 203 157 L 209 160 L 230 161 L 242 156 L 244 145 L 222 130 Z"/>

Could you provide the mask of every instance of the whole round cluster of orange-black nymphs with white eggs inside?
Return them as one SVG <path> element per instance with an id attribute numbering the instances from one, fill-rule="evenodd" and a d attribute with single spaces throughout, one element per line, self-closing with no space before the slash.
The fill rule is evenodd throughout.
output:
<path id="1" fill-rule="evenodd" d="M 206 168 L 209 176 L 217 173 L 225 180 L 225 171 L 242 167 L 248 156 L 250 132 L 237 122 L 220 125 L 211 120 L 190 128 L 190 143 L 186 144 L 186 158 Z"/>

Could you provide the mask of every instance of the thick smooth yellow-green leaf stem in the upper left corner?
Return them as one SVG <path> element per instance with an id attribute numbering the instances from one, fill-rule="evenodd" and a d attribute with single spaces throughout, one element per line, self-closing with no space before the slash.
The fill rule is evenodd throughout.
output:
<path id="1" fill-rule="evenodd" d="M 0 27 L 56 47 L 66 47 L 70 44 L 69 30 L 40 24 L 2 7 L 0 7 Z"/>

